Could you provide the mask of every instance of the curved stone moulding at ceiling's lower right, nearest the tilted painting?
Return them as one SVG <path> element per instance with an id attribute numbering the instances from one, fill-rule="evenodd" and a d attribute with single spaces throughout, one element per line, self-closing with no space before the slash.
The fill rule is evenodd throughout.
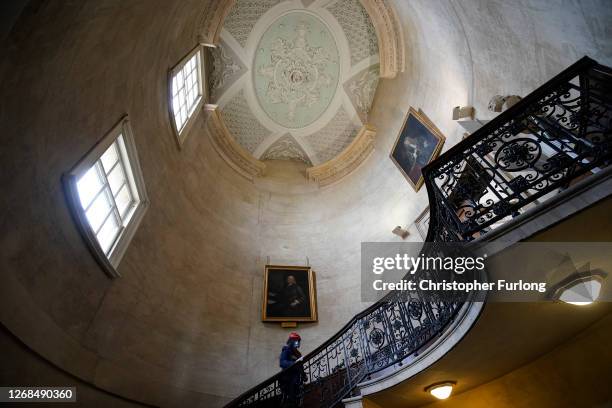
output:
<path id="1" fill-rule="evenodd" d="M 350 145 L 338 156 L 315 167 L 306 169 L 308 179 L 324 187 L 335 183 L 341 178 L 351 174 L 363 163 L 374 150 L 376 129 L 370 125 L 363 125 Z"/>

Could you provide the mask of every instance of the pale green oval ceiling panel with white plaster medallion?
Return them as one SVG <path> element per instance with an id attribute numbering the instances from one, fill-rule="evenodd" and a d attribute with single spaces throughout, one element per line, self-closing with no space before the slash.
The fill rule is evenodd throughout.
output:
<path id="1" fill-rule="evenodd" d="M 279 125 L 306 127 L 334 98 L 339 65 L 338 47 L 325 23 L 310 13 L 290 12 L 261 37 L 254 61 L 255 94 Z"/>

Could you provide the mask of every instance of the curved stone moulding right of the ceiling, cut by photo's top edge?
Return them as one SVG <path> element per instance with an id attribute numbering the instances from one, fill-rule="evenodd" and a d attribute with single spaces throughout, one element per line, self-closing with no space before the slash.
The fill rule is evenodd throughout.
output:
<path id="1" fill-rule="evenodd" d="M 404 31 L 397 13 L 389 1 L 360 0 L 366 9 L 378 37 L 380 77 L 395 78 L 406 69 Z"/>

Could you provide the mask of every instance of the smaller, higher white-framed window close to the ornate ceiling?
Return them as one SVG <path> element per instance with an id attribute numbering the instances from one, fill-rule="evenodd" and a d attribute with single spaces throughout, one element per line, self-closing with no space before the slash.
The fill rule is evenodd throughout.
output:
<path id="1" fill-rule="evenodd" d="M 174 130 L 179 145 L 203 103 L 204 71 L 203 51 L 198 45 L 170 71 L 170 105 Z"/>

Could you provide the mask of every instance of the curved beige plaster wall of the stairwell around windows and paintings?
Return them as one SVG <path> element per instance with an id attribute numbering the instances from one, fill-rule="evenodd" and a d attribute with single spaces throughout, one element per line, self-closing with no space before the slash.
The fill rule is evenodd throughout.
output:
<path id="1" fill-rule="evenodd" d="M 317 271 L 309 351 L 361 304 L 361 241 L 388 241 L 426 207 L 388 159 L 409 106 L 446 135 L 452 107 L 486 118 L 494 94 L 524 95 L 587 54 L 612 64 L 605 1 L 396 0 L 406 71 L 381 80 L 374 152 L 317 189 L 300 165 L 249 182 L 218 156 L 204 114 L 183 149 L 168 69 L 197 38 L 206 1 L 33 1 L 0 63 L 0 320 L 43 357 L 97 387 L 162 406 L 218 406 L 277 371 L 287 331 L 260 322 L 263 266 Z M 151 207 L 109 280 L 70 218 L 60 177 L 130 116 Z"/>

